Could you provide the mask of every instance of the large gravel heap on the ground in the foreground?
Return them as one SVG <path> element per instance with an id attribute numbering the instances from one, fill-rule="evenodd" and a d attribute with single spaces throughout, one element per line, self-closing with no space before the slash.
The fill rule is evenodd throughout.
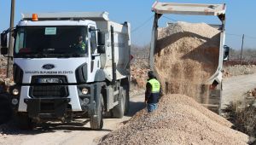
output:
<path id="1" fill-rule="evenodd" d="M 154 113 L 137 113 L 100 144 L 247 144 L 230 122 L 188 96 L 167 95 Z"/>

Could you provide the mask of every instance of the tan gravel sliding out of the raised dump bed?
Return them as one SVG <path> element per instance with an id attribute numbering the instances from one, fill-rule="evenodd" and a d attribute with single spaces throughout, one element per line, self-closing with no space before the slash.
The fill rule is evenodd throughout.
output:
<path id="1" fill-rule="evenodd" d="M 219 34 L 205 23 L 159 28 L 154 65 L 165 94 L 183 94 L 207 104 L 208 88 L 201 84 L 218 69 Z"/>

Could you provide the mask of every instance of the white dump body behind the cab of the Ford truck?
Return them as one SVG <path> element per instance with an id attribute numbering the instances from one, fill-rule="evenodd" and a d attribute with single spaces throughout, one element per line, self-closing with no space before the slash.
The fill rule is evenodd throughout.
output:
<path id="1" fill-rule="evenodd" d="M 130 24 L 125 23 L 120 25 L 113 21 L 100 21 L 95 20 L 98 28 L 105 32 L 106 38 L 106 54 L 101 55 L 102 69 L 106 74 L 108 80 L 113 79 L 112 73 L 112 49 L 111 49 L 111 30 L 110 26 L 114 27 L 114 62 L 117 64 L 117 79 L 125 78 L 130 74 L 130 49 L 131 49 L 131 34 Z"/>

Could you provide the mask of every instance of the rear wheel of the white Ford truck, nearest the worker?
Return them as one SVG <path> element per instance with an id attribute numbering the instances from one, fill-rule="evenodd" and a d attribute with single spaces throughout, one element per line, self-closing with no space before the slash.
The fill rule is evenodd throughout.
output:
<path id="1" fill-rule="evenodd" d="M 122 119 L 125 114 L 125 94 L 123 87 L 119 89 L 118 105 L 113 107 L 113 117 Z"/>

